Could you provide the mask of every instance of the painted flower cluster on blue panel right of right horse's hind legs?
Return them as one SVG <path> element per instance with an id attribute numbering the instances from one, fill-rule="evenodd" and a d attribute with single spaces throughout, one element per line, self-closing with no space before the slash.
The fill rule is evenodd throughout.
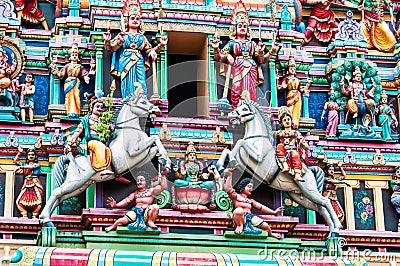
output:
<path id="1" fill-rule="evenodd" d="M 359 191 L 354 199 L 356 218 L 360 219 L 365 229 L 369 229 L 374 220 L 374 204 L 365 190 Z"/>

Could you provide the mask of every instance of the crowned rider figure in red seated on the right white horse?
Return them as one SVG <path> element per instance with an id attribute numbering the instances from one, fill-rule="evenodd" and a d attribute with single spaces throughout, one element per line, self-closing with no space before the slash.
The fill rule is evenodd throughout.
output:
<path id="1" fill-rule="evenodd" d="M 307 141 L 301 133 L 293 129 L 293 120 L 288 107 L 282 106 L 278 111 L 279 124 L 283 129 L 277 130 L 279 144 L 276 146 L 276 158 L 282 172 L 294 175 L 295 181 L 304 182 L 301 177 L 307 166 L 305 150 L 308 150 Z"/>

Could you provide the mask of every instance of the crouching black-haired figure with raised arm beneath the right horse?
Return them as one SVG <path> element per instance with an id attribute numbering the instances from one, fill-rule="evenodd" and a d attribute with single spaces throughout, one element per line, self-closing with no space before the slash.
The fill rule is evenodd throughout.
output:
<path id="1" fill-rule="evenodd" d="M 242 232 L 247 234 L 260 234 L 261 230 L 265 230 L 268 236 L 275 238 L 281 238 L 279 234 L 272 233 L 271 227 L 258 216 L 251 213 L 251 209 L 255 208 L 265 214 L 279 215 L 283 213 L 283 207 L 279 207 L 276 210 L 271 210 L 267 206 L 250 199 L 253 183 L 250 178 L 245 178 L 239 182 L 238 189 L 236 192 L 232 187 L 232 172 L 230 169 L 225 170 L 227 176 L 225 181 L 225 191 L 228 193 L 229 198 L 233 201 L 235 210 L 233 211 L 233 221 L 235 222 L 236 228 L 235 233 L 241 234 Z"/>

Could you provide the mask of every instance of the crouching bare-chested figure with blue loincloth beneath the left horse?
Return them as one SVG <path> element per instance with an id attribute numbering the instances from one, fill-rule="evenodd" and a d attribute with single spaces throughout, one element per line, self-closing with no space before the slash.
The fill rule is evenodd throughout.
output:
<path id="1" fill-rule="evenodd" d="M 128 225 L 129 229 L 132 230 L 146 230 L 147 227 L 151 229 L 157 229 L 155 221 L 159 213 L 159 207 L 157 204 L 153 204 L 154 198 L 164 191 L 167 187 L 166 175 L 168 170 L 165 169 L 161 172 L 160 182 L 154 187 L 148 188 L 147 181 L 144 176 L 136 177 L 137 190 L 131 193 L 128 197 L 120 202 L 116 202 L 114 198 L 109 197 L 107 199 L 108 205 L 112 208 L 115 207 L 125 207 L 130 203 L 134 202 L 135 207 L 131 211 L 127 212 L 124 217 L 119 218 L 115 223 L 105 230 L 106 232 L 115 230 L 117 226 Z"/>

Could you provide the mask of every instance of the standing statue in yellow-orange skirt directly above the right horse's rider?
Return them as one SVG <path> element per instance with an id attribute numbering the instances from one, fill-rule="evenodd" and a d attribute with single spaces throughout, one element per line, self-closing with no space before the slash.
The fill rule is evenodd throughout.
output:
<path id="1" fill-rule="evenodd" d="M 288 74 L 282 79 L 278 90 L 287 90 L 286 106 L 289 107 L 293 119 L 293 127 L 296 129 L 300 124 L 302 94 L 309 94 L 308 88 L 311 85 L 311 79 L 307 79 L 307 84 L 302 87 L 300 79 L 296 76 L 296 61 L 294 57 L 289 58 L 287 64 Z"/>

